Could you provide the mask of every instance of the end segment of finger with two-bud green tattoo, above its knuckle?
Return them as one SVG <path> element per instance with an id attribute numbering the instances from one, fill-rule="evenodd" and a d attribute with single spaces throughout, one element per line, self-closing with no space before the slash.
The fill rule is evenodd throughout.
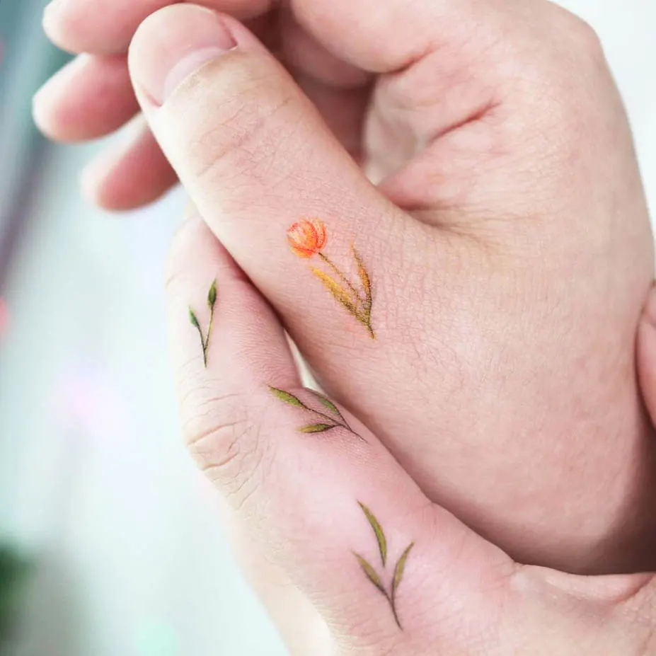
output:
<path id="1" fill-rule="evenodd" d="M 192 211 L 176 232 L 166 261 L 168 331 L 188 442 L 204 433 L 198 403 L 211 394 L 252 399 L 282 376 L 297 384 L 279 318 L 231 255 Z M 212 380 L 212 389 L 207 380 Z M 194 426 L 196 428 L 194 428 Z"/>

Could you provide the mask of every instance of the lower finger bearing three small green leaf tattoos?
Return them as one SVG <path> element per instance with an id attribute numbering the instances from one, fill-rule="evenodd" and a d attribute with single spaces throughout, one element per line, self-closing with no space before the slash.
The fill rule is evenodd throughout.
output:
<path id="1" fill-rule="evenodd" d="M 197 217 L 167 290 L 190 450 L 338 652 L 476 650 L 499 626 L 510 559 L 432 505 L 345 408 L 302 389 L 275 313 Z"/>

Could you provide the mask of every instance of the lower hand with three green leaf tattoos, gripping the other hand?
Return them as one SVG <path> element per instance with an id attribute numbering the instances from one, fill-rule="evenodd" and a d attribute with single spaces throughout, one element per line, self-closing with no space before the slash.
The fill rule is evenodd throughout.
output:
<path id="1" fill-rule="evenodd" d="M 656 654 L 656 580 L 517 565 L 433 505 L 362 422 L 301 389 L 279 319 L 198 217 L 175 240 L 168 297 L 185 437 L 290 654 Z M 202 333 L 214 317 L 207 369 L 189 303 Z M 650 312 L 656 410 L 656 292 Z M 335 427 L 299 431 L 317 413 Z"/>

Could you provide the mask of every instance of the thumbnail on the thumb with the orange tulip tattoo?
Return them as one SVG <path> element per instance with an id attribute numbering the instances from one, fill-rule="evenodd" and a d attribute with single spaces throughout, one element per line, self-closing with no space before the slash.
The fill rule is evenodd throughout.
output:
<path id="1" fill-rule="evenodd" d="M 158 105 L 163 105 L 171 93 L 204 64 L 237 45 L 216 13 L 199 7 L 194 7 L 193 12 L 190 9 L 190 6 L 185 7 L 180 32 L 169 33 L 168 47 L 157 49 L 158 57 L 142 53 L 139 58 L 139 84 Z"/>

